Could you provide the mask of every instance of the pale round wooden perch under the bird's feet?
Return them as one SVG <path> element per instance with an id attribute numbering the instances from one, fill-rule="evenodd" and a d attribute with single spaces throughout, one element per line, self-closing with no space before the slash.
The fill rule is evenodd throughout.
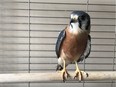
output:
<path id="1" fill-rule="evenodd" d="M 74 80 L 74 72 L 69 72 L 70 78 L 67 80 Z M 94 71 L 87 72 L 87 77 L 83 74 L 84 80 L 116 80 L 116 71 Z M 62 81 L 61 74 L 58 72 L 46 73 L 17 73 L 17 74 L 0 74 L 0 83 L 5 82 L 50 82 Z"/>

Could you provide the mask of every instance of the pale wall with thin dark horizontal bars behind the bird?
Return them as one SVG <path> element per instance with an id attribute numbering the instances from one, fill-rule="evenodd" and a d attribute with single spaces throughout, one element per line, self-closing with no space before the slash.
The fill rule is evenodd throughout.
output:
<path id="1" fill-rule="evenodd" d="M 73 10 L 87 10 L 87 0 L 30 0 L 30 10 L 28 2 L 0 2 L 0 73 L 55 71 L 54 47 L 59 31 L 69 23 Z M 115 0 L 89 0 L 92 52 L 86 59 L 86 71 L 112 71 L 113 66 L 116 70 L 114 5 Z M 84 69 L 83 62 L 79 66 Z M 68 66 L 69 71 L 74 69 L 73 64 Z M 84 85 L 116 87 L 112 81 L 90 81 Z M 83 87 L 83 83 L 30 83 L 30 87 L 50 86 Z M 28 87 L 28 83 L 0 84 L 0 87 Z"/>

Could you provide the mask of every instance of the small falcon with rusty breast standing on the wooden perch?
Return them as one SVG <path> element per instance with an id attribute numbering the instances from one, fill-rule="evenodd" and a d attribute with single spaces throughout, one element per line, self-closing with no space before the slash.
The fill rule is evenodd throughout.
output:
<path id="1" fill-rule="evenodd" d="M 78 62 L 86 59 L 91 52 L 91 20 L 88 13 L 75 10 L 70 14 L 70 22 L 57 37 L 55 52 L 58 58 L 56 70 L 61 72 L 63 81 L 70 77 L 66 67 L 75 63 L 74 79 L 83 80 Z M 84 72 L 85 73 L 85 72 Z M 88 76 L 88 74 L 86 73 Z"/>

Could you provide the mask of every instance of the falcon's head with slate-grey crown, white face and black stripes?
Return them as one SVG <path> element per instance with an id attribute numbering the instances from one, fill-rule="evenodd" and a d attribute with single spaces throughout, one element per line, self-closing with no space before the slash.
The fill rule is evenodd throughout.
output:
<path id="1" fill-rule="evenodd" d="M 79 27 L 81 30 L 90 33 L 90 16 L 86 12 L 73 11 L 70 18 L 71 29 Z"/>

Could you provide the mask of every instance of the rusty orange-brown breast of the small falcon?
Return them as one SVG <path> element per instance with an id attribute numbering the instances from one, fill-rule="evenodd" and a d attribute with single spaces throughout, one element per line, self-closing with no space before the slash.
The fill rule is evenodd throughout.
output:
<path id="1" fill-rule="evenodd" d="M 66 37 L 64 39 L 62 50 L 65 54 L 65 58 L 71 61 L 78 60 L 84 53 L 87 44 L 87 34 L 78 33 L 76 35 L 71 34 L 66 30 Z"/>

